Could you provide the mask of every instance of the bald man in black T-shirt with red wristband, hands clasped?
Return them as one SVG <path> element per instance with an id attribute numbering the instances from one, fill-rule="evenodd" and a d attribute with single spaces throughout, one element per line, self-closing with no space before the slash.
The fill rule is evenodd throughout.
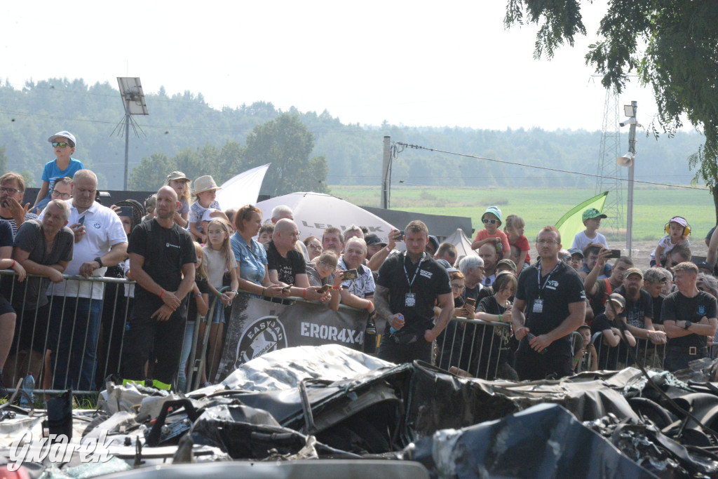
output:
<path id="1" fill-rule="evenodd" d="M 145 386 L 169 389 L 182 353 L 187 321 L 185 296 L 195 283 L 195 246 L 190 233 L 174 223 L 180 207 L 169 186 L 157 192 L 156 217 L 136 225 L 130 236 L 128 276 L 136 280 L 134 306 L 123 349 L 124 382 L 145 379 L 150 353 L 157 360 Z"/>

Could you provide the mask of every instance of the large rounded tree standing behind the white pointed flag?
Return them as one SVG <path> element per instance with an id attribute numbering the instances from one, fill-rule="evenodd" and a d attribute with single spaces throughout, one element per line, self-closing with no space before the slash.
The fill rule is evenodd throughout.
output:
<path id="1" fill-rule="evenodd" d="M 262 193 L 278 196 L 295 191 L 329 192 L 325 157 L 312 157 L 314 134 L 299 116 L 284 113 L 257 125 L 247 136 L 244 160 L 247 168 L 271 163 Z"/>

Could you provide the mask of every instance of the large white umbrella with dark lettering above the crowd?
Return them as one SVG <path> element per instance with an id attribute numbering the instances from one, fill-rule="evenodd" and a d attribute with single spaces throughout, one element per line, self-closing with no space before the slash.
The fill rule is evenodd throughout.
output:
<path id="1" fill-rule="evenodd" d="M 262 210 L 264 219 L 269 220 L 271 210 L 279 205 L 292 208 L 294 222 L 302 233 L 302 239 L 307 236 L 322 238 L 322 232 L 330 226 L 344 231 L 350 225 L 357 225 L 366 226 L 369 233 L 375 233 L 382 241 L 388 242 L 388 233 L 393 228 L 393 225 L 377 215 L 324 193 L 290 193 L 261 201 L 257 203 L 257 208 Z"/>

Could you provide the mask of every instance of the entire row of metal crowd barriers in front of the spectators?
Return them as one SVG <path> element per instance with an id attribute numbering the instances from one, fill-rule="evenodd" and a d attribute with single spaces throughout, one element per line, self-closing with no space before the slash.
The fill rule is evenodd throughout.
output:
<path id="1" fill-rule="evenodd" d="M 14 271 L 0 271 L 1 292 L 17 313 L 9 358 L 3 368 L 6 386 L 14 386 L 19 378 L 32 371 L 37 386 L 35 391 L 39 393 L 60 394 L 73 389 L 73 394 L 97 394 L 104 388 L 105 378 L 121 373 L 123 353 L 126 348 L 131 348 L 124 343 L 124 335 L 134 301 L 135 282 L 103 276 L 63 275 L 66 283 L 89 283 L 90 296 L 97 289 L 104 289 L 103 299 L 89 299 L 80 296 L 80 288 L 74 289 L 72 294 L 52 294 L 56 284 L 44 276 L 27 275 L 24 282 L 17 282 L 13 276 L 17 276 Z M 224 287 L 220 292 L 227 289 Z M 50 293 L 47 304 L 43 299 L 46 290 Z M 241 294 L 251 295 L 248 292 Z M 288 299 L 306 302 L 302 298 Z M 223 341 L 220 327 L 213 330 L 212 318 L 217 307 L 225 309 L 216 299 L 211 302 L 207 315 L 197 315 L 194 327 L 188 323 L 185 329 L 187 335 L 191 334 L 191 340 L 187 336 L 187 341 L 183 341 L 189 349 L 181 355 L 177 365 L 177 381 L 174 381 L 179 386 L 177 391 L 197 389 L 203 376 L 210 381 L 214 378 Z M 340 307 L 355 310 L 344 304 Z M 228 313 L 223 311 L 218 316 L 229 320 Z M 192 318 L 188 319 L 191 321 Z M 383 331 L 383 324 L 378 323 L 377 340 Z M 599 332 L 592 337 L 597 351 L 597 368 L 632 366 L 625 345 L 610 348 L 602 343 L 600 335 Z M 0 342 L 7 338 L 7 335 L 0 337 Z M 578 332 L 572 333 L 573 350 L 581 348 L 582 341 Z M 661 368 L 665 348 L 648 340 L 637 341 L 634 350 L 639 361 L 651 368 Z M 457 372 L 465 371 L 477 378 L 516 379 L 511 365 L 517 347 L 509 323 L 452 317 L 437 338 L 434 362 L 446 370 L 453 367 Z M 208 358 L 209 351 L 214 352 L 211 358 Z M 151 377 L 152 366 L 149 361 L 147 377 Z M 592 367 L 592 358 L 587 355 L 579 361 L 577 372 Z"/>

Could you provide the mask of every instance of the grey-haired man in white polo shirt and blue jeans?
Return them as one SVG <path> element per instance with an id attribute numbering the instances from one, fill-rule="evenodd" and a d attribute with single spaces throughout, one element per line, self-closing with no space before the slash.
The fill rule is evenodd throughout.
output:
<path id="1" fill-rule="evenodd" d="M 67 275 L 104 276 L 108 266 L 127 258 L 127 236 L 120 218 L 95 202 L 96 191 L 93 172 L 80 169 L 75 173 L 73 197 L 67 200 L 75 251 L 65 269 Z M 90 390 L 104 292 L 102 282 L 73 279 L 47 289 L 47 295 L 52 296 L 50 321 L 60 331 L 57 348 L 52 351 L 53 389 Z"/>

